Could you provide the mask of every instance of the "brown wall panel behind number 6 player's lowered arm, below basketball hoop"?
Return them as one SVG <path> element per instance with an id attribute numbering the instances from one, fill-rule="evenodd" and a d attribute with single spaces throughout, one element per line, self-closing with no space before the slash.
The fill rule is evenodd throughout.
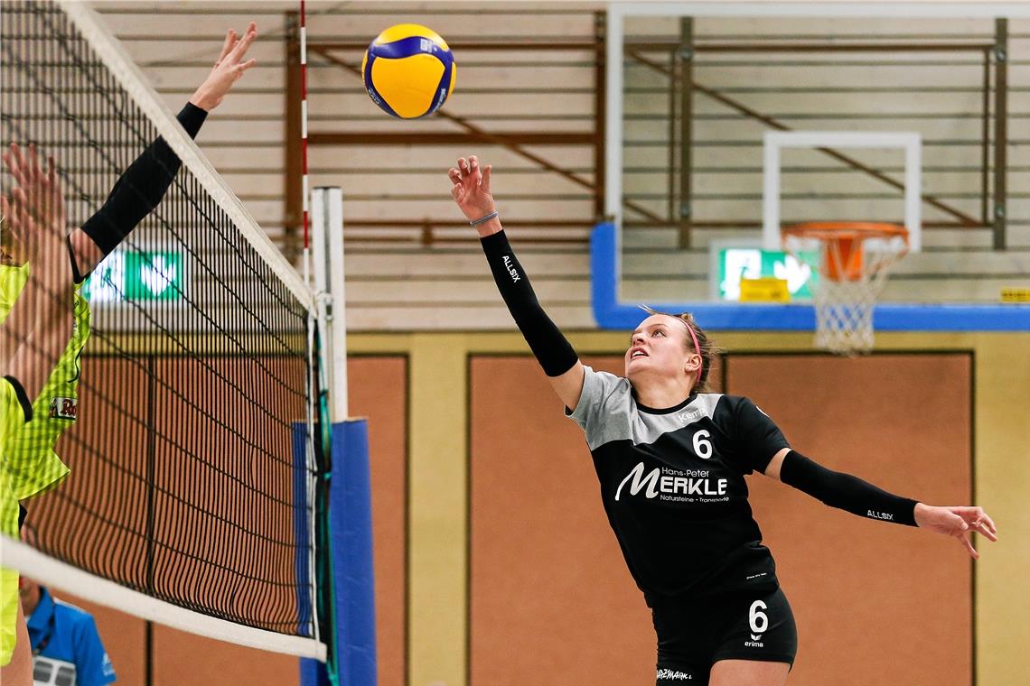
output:
<path id="1" fill-rule="evenodd" d="M 730 355 L 799 452 L 887 491 L 968 504 L 971 356 Z M 972 565 L 959 543 L 754 476 L 751 501 L 798 623 L 791 686 L 970 684 Z"/>

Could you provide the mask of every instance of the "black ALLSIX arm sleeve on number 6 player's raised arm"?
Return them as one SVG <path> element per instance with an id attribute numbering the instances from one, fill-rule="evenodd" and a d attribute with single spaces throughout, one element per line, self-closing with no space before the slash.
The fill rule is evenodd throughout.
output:
<path id="1" fill-rule="evenodd" d="M 544 373 L 548 376 L 560 376 L 572 369 L 579 357 L 540 306 L 529 278 L 508 244 L 508 237 L 504 231 L 499 231 L 482 239 L 480 243 L 501 297 L 505 299 L 508 311 L 525 341 L 529 344 L 529 350 L 544 368 Z"/>

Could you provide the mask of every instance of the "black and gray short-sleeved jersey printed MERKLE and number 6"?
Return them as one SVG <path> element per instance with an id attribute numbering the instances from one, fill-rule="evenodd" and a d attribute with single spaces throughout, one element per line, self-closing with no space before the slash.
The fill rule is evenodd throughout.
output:
<path id="1" fill-rule="evenodd" d="M 777 585 L 744 477 L 789 443 L 753 402 L 701 393 L 652 409 L 626 378 L 585 367 L 568 413 L 586 433 L 608 520 L 648 605 Z"/>

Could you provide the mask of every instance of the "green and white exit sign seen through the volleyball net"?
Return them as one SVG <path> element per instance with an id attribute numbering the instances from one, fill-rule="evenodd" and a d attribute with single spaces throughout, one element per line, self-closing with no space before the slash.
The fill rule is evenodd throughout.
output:
<path id="1" fill-rule="evenodd" d="M 181 300 L 185 272 L 180 252 L 115 250 L 82 284 L 90 302 Z"/>

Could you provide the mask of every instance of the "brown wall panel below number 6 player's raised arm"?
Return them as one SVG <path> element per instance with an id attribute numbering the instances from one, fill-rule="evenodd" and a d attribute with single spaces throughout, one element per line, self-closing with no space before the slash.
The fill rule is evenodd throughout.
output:
<path id="1" fill-rule="evenodd" d="M 470 390 L 469 685 L 653 680 L 649 612 L 582 431 L 531 357 L 474 357 Z"/>

